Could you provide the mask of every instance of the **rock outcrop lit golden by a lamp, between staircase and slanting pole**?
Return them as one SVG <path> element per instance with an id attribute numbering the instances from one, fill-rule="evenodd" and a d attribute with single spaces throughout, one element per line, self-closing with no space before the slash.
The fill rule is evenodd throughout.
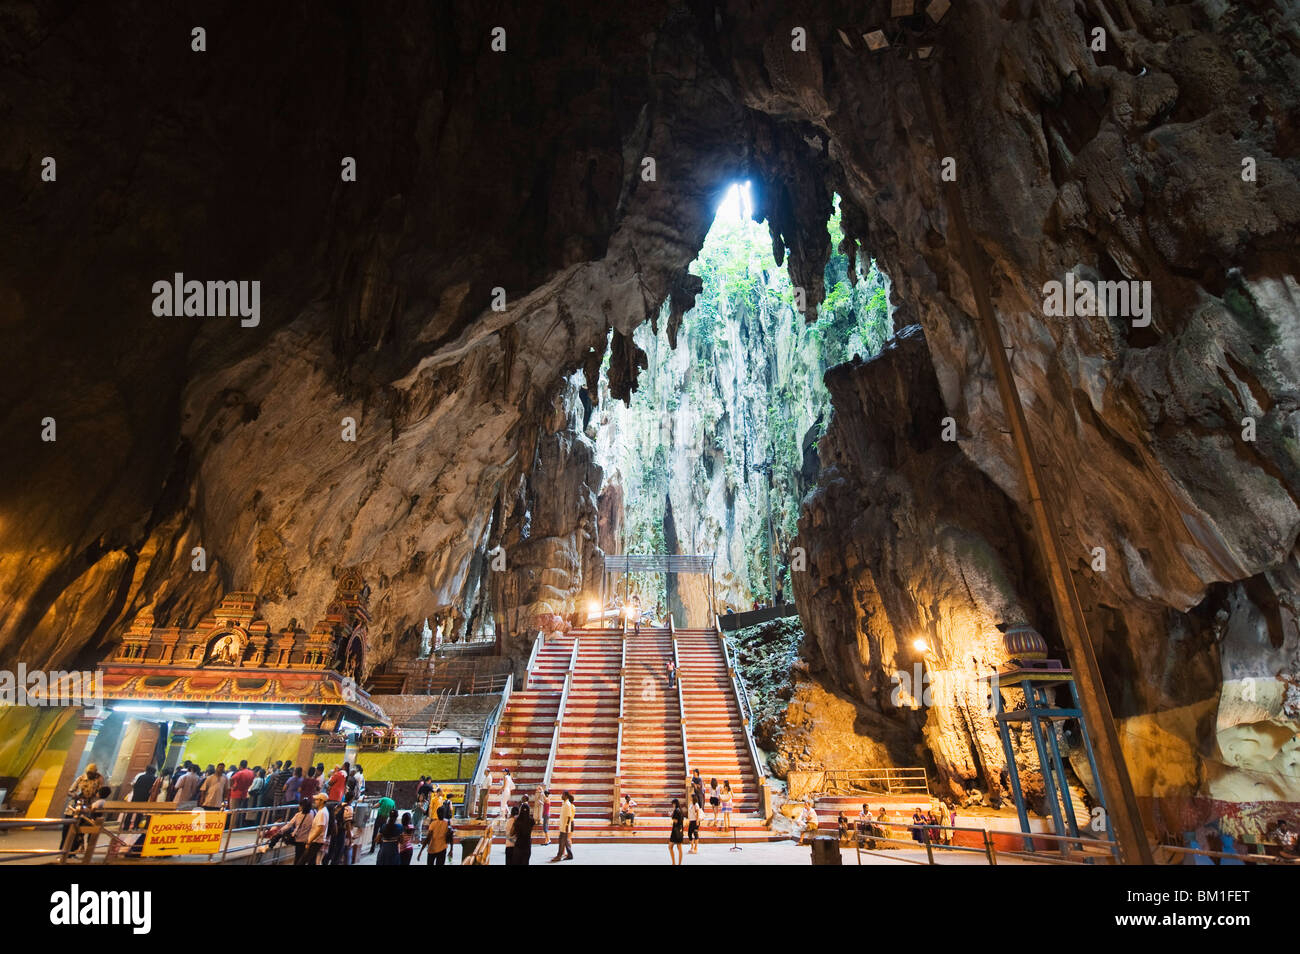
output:
<path id="1" fill-rule="evenodd" d="M 827 386 L 835 415 L 796 541 L 807 565 L 792 574 L 809 675 L 861 703 L 857 724 L 906 729 L 940 792 L 1000 797 L 1006 759 L 980 678 L 1006 662 L 997 625 L 1050 607 L 1028 526 L 935 426 L 945 412 L 919 326 Z M 832 734 L 800 740 L 800 755 L 777 747 L 793 768 L 831 767 Z"/>

